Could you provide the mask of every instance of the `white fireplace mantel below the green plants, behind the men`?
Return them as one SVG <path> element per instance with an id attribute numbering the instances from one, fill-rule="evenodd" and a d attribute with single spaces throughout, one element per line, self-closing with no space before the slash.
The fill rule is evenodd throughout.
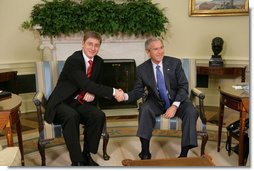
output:
<path id="1" fill-rule="evenodd" d="M 102 45 L 98 53 L 103 59 L 135 59 L 136 65 L 147 58 L 145 53 L 145 39 L 136 37 L 106 37 L 103 36 Z M 40 49 L 45 53 L 50 51 L 52 61 L 66 60 L 71 54 L 82 48 L 81 34 L 61 36 L 57 38 L 41 37 Z M 48 57 L 47 57 L 48 58 Z"/>

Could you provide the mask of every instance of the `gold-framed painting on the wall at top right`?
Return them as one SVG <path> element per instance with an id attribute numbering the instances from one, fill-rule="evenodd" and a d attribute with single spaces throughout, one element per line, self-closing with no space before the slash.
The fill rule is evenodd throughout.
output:
<path id="1" fill-rule="evenodd" d="M 189 16 L 246 16 L 249 0 L 189 0 Z"/>

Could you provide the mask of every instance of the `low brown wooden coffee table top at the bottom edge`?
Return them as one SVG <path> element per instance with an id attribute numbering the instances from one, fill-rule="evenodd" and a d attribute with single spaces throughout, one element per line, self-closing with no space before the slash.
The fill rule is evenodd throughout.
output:
<path id="1" fill-rule="evenodd" d="M 152 160 L 124 159 L 123 166 L 215 166 L 208 155 L 201 157 L 167 158 Z"/>

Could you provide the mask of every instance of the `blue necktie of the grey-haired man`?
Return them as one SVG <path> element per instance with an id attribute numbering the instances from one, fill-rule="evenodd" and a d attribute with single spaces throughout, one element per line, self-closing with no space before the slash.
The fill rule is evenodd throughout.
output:
<path id="1" fill-rule="evenodd" d="M 162 100 L 164 100 L 164 102 L 165 102 L 165 109 L 168 109 L 168 107 L 170 105 L 169 104 L 169 98 L 168 98 L 168 95 L 167 95 L 165 80 L 164 80 L 164 77 L 162 75 L 162 72 L 160 71 L 160 66 L 159 65 L 156 66 L 156 77 L 157 77 L 157 87 L 159 89 L 160 98 Z"/>

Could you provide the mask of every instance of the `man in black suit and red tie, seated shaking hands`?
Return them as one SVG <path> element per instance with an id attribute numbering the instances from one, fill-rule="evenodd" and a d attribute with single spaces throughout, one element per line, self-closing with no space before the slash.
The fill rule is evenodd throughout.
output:
<path id="1" fill-rule="evenodd" d="M 96 106 L 96 96 L 111 99 L 119 90 L 100 84 L 103 59 L 97 55 L 102 39 L 93 31 L 83 38 L 82 50 L 66 60 L 57 85 L 49 97 L 45 120 L 61 124 L 73 166 L 98 166 L 90 153 L 97 153 L 105 113 Z M 84 147 L 80 128 L 84 124 Z"/>

